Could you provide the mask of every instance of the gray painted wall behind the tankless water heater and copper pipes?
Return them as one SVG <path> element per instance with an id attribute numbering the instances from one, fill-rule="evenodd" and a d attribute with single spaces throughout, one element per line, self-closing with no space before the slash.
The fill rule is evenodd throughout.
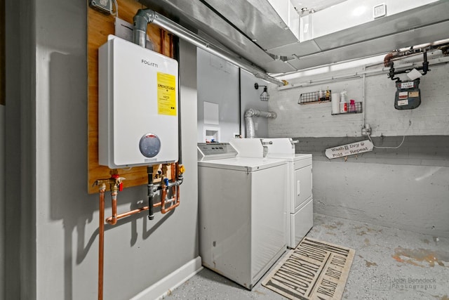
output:
<path id="1" fill-rule="evenodd" d="M 98 195 L 86 187 L 86 2 L 8 2 L 15 2 L 6 8 L 10 25 L 19 13 L 29 18 L 6 43 L 10 51 L 23 46 L 10 52 L 18 64 L 7 70 L 16 80 L 8 84 L 15 101 L 6 117 L 6 299 L 95 299 Z M 196 131 L 196 48 L 180 48 L 181 204 L 151 222 L 142 213 L 106 226 L 105 299 L 130 299 L 198 256 L 196 142 L 188 135 Z M 145 185 L 126 188 L 118 210 L 146 199 Z M 108 215 L 109 201 L 106 207 Z"/>

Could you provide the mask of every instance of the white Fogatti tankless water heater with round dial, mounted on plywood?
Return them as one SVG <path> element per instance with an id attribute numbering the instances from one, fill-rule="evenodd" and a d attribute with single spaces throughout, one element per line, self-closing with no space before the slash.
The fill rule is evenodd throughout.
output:
<path id="1" fill-rule="evenodd" d="M 109 35 L 98 50 L 98 64 L 100 165 L 176 162 L 177 61 Z"/>

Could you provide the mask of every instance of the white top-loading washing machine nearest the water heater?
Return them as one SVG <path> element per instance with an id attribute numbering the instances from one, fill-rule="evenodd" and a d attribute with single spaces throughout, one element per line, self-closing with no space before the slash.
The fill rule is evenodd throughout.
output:
<path id="1" fill-rule="evenodd" d="M 203 266 L 252 289 L 286 251 L 283 159 L 236 157 L 199 143 L 199 252 Z"/>

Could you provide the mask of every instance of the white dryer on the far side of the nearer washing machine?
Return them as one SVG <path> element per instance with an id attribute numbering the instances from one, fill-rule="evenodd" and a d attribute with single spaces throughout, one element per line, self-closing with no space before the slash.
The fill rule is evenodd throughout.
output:
<path id="1" fill-rule="evenodd" d="M 289 248 L 295 248 L 314 225 L 311 154 L 295 154 L 291 138 L 235 138 L 231 144 L 239 152 L 239 156 L 286 160 L 286 244 Z"/>

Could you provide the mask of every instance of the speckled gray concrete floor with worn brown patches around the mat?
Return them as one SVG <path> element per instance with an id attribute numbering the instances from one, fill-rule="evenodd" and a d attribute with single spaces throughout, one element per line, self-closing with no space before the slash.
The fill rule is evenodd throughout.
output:
<path id="1" fill-rule="evenodd" d="M 447 237 L 320 214 L 314 215 L 314 228 L 307 236 L 356 250 L 343 299 L 449 300 Z M 166 299 L 286 299 L 261 281 L 248 291 L 204 268 Z"/>

